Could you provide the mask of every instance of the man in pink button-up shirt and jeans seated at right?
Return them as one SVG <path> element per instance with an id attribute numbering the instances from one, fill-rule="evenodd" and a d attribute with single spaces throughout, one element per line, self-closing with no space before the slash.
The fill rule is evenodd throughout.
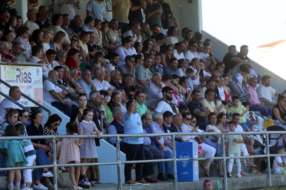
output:
<path id="1" fill-rule="evenodd" d="M 257 86 L 257 79 L 252 77 L 249 79 L 249 86 L 246 88 L 245 93 L 251 96 L 247 101 L 250 103 L 249 111 L 259 111 L 262 116 L 271 116 L 272 109 L 264 107 L 258 99 L 255 87 Z"/>

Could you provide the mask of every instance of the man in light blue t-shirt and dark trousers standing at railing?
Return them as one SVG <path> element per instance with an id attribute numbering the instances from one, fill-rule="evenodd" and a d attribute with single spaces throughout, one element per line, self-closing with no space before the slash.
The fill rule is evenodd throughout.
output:
<path id="1" fill-rule="evenodd" d="M 135 100 L 129 100 L 126 103 L 127 112 L 123 115 L 124 134 L 144 134 L 142 121 L 137 113 L 137 104 Z M 143 137 L 124 137 L 124 153 L 126 160 L 145 160 Z M 124 175 L 125 185 L 149 185 L 142 175 L 143 163 L 135 164 L 135 183 L 131 178 L 131 169 L 133 164 L 125 164 Z"/>

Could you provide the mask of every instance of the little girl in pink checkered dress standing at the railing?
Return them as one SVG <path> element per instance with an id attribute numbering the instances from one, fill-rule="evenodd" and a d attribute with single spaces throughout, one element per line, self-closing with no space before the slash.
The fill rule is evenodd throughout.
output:
<path id="1" fill-rule="evenodd" d="M 68 122 L 65 127 L 67 130 L 67 135 L 78 134 L 78 125 L 76 123 Z M 58 164 L 80 163 L 80 149 L 78 146 L 82 143 L 83 140 L 83 138 L 63 138 L 60 142 L 58 142 L 57 146 L 61 148 Z M 74 167 L 69 167 L 69 177 L 74 185 L 73 189 L 82 189 L 82 187 L 79 187 L 77 183 L 80 178 L 80 166 L 75 167 L 76 177 L 74 177 Z"/>

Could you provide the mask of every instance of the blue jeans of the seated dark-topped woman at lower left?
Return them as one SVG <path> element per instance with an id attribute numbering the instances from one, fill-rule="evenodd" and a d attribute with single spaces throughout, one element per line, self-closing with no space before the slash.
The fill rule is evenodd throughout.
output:
<path id="1" fill-rule="evenodd" d="M 35 149 L 36 152 L 36 166 L 44 166 L 52 164 L 44 151 Z M 42 178 L 43 170 L 38 168 L 33 170 L 34 180 Z"/>

